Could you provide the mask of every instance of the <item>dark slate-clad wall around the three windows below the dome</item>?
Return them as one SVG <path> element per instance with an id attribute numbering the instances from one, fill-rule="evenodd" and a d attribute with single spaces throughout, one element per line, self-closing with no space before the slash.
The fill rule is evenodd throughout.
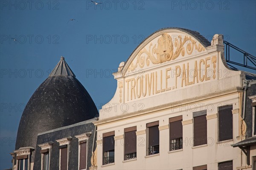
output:
<path id="1" fill-rule="evenodd" d="M 78 161 L 79 161 L 79 141 L 75 135 L 81 135 L 83 133 L 91 133 L 89 138 L 89 143 L 87 147 L 87 169 L 91 166 L 91 156 L 92 156 L 92 146 L 93 146 L 93 133 L 95 126 L 92 123 L 94 119 L 89 121 L 80 122 L 79 124 L 73 124 L 71 126 L 63 127 L 56 130 L 48 131 L 44 134 L 39 134 L 37 139 L 37 147 L 35 150 L 35 162 L 34 170 L 41 169 L 41 148 L 39 144 L 44 144 L 47 142 L 54 142 L 52 144 L 51 154 L 50 154 L 50 170 L 59 169 L 59 143 L 56 141 L 58 139 L 72 137 L 70 141 L 70 152 L 69 152 L 69 161 L 68 169 L 69 170 L 78 170 Z"/>

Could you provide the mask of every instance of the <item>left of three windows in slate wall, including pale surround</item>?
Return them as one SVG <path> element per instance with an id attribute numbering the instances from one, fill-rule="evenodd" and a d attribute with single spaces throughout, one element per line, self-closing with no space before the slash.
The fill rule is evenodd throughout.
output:
<path id="1" fill-rule="evenodd" d="M 52 148 L 53 142 L 47 142 L 44 144 L 39 144 L 38 146 L 41 147 L 41 170 L 49 170 L 50 167 L 50 150 Z"/>

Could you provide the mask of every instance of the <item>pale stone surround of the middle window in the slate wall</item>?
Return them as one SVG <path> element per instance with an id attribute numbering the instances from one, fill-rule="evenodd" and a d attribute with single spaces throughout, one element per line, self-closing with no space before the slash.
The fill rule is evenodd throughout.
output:
<path id="1" fill-rule="evenodd" d="M 68 170 L 68 161 L 69 161 L 69 151 L 70 151 L 70 142 L 72 137 L 62 138 L 56 140 L 59 143 L 59 170 L 61 170 L 61 149 L 66 148 L 64 145 L 67 146 L 67 170 Z"/>

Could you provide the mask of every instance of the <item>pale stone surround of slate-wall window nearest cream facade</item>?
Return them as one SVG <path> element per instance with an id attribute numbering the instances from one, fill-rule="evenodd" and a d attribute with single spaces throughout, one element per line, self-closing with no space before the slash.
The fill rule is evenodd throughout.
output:
<path id="1" fill-rule="evenodd" d="M 91 132 L 83 133 L 81 135 L 76 135 L 75 137 L 78 138 L 78 170 L 86 170 L 87 169 L 87 161 L 88 161 L 88 144 L 90 139 Z M 81 152 L 81 144 L 86 142 L 86 168 L 80 169 L 80 152 Z"/>

